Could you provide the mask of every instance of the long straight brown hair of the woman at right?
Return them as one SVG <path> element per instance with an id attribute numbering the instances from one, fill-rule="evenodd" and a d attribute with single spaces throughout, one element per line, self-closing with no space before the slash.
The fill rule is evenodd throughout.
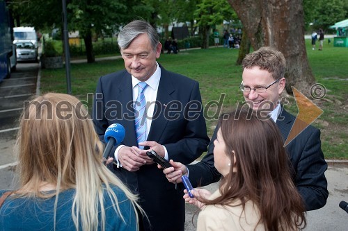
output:
<path id="1" fill-rule="evenodd" d="M 219 126 L 226 155 L 236 163 L 221 180 L 221 196 L 203 203 L 227 206 L 240 200 L 244 208 L 246 201 L 252 200 L 266 230 L 305 227 L 305 207 L 292 182 L 290 160 L 276 123 L 251 110 L 237 110 L 224 114 Z"/>

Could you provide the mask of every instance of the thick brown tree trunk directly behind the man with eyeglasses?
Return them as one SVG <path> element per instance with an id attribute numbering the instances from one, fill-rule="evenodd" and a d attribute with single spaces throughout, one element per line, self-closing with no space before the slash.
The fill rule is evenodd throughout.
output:
<path id="1" fill-rule="evenodd" d="M 287 93 L 291 86 L 307 96 L 315 78 L 304 40 L 302 0 L 228 0 L 243 24 L 254 50 L 274 46 L 287 60 Z"/>

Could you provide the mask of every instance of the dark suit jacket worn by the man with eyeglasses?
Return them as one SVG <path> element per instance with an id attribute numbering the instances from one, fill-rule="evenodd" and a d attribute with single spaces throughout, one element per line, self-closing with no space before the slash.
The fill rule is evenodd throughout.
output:
<path id="1" fill-rule="evenodd" d="M 283 140 L 289 135 L 295 117 L 285 111 L 280 113 L 276 125 L 278 126 Z M 214 167 L 214 140 L 219 128 L 216 128 L 209 144 L 208 152 L 203 160 L 197 164 L 188 165 L 189 179 L 193 187 L 209 185 L 217 182 L 221 175 Z M 291 162 L 291 171 L 299 193 L 301 194 L 307 210 L 323 207 L 329 196 L 325 171 L 327 164 L 320 142 L 320 130 L 308 126 L 286 147 Z"/>

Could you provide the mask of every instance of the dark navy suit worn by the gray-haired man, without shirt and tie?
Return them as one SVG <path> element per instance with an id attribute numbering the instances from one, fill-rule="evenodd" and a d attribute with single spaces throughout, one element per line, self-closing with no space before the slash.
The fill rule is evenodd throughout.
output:
<path id="1" fill-rule="evenodd" d="M 106 128 L 112 123 L 120 123 L 126 131 L 122 144 L 138 146 L 134 111 L 130 107 L 132 103 L 132 78 L 126 70 L 100 78 L 93 105 L 93 122 L 102 141 Z M 207 151 L 209 137 L 198 82 L 161 67 L 157 104 L 147 140 L 164 145 L 169 159 L 184 164 L 191 163 Z M 115 149 L 110 157 L 113 157 Z M 141 207 L 148 214 L 152 230 L 184 230 L 182 187 L 180 185 L 180 190 L 176 190 L 175 185 L 168 182 L 164 173 L 157 169 L 157 164 L 141 166 L 136 172 L 113 165 L 111 171 L 129 189 L 139 194 Z M 144 225 L 145 230 L 151 230 L 146 221 Z"/>

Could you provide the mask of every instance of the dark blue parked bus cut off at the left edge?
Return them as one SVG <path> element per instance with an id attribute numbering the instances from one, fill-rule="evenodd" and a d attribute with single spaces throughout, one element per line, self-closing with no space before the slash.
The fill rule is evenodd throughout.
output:
<path id="1" fill-rule="evenodd" d="M 5 1 L 0 0 L 0 81 L 10 78 L 11 70 L 17 64 L 15 44 L 13 44 L 13 26 Z"/>

